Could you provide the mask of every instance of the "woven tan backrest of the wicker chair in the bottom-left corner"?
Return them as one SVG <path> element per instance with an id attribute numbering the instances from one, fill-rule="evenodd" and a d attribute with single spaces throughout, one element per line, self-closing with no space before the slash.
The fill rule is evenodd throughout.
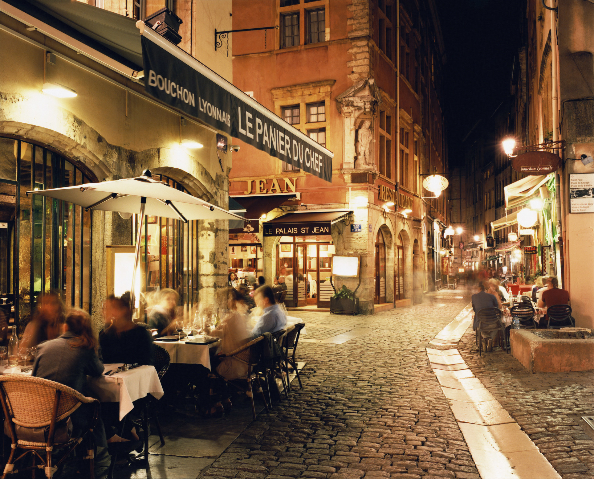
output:
<path id="1" fill-rule="evenodd" d="M 72 414 L 81 402 L 91 402 L 68 386 L 40 377 L 24 374 L 2 374 L 0 394 L 4 396 L 8 412 L 15 424 L 23 427 L 45 427 L 52 421 L 56 390 L 61 391 L 56 412 L 56 421 Z M 80 398 L 88 399 L 81 401 Z"/>

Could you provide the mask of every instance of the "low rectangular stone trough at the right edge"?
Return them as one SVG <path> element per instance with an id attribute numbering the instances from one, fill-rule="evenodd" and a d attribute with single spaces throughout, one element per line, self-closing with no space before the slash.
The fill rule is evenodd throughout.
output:
<path id="1" fill-rule="evenodd" d="M 530 329 L 511 329 L 510 344 L 511 354 L 530 373 L 594 370 L 594 339 L 592 338 L 549 339 L 535 335 Z"/>

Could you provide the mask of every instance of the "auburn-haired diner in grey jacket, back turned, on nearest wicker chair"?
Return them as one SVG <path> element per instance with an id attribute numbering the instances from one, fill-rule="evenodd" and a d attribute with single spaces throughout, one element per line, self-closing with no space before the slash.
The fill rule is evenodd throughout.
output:
<path id="1" fill-rule="evenodd" d="M 72 310 L 62 325 L 62 335 L 37 346 L 31 376 L 55 381 L 88 396 L 85 391 L 87 376 L 100 377 L 104 370 L 98 349 L 91 317 L 86 311 Z M 81 405 L 71 416 L 72 426 L 77 430 L 89 428 L 93 410 L 91 404 Z M 106 441 L 105 428 L 100 421 L 93 430 L 97 446 L 106 448 L 107 442 L 116 442 L 119 438 L 113 437 L 113 433 L 109 436 Z"/>

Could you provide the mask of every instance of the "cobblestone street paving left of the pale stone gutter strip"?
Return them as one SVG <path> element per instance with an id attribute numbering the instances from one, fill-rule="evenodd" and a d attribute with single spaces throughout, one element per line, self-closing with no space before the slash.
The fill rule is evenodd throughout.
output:
<path id="1" fill-rule="evenodd" d="M 343 344 L 300 342 L 304 389 L 293 382 L 290 401 L 261 414 L 203 475 L 478 479 L 425 350 L 469 301 L 459 288 L 374 316 L 295 313 L 307 339 L 368 332 Z"/>

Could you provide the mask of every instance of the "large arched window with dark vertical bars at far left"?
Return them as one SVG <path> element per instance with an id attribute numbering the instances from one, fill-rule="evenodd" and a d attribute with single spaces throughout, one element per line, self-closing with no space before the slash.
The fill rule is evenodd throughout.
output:
<path id="1" fill-rule="evenodd" d="M 13 302 L 21 326 L 49 290 L 91 308 L 91 213 L 26 191 L 95 181 L 52 150 L 0 137 L 0 297 Z"/>

